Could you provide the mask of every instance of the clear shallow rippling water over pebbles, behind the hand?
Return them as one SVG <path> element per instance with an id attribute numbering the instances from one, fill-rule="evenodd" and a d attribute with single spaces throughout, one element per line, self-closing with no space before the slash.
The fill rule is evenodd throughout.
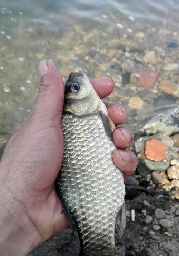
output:
<path id="1" fill-rule="evenodd" d="M 52 60 L 64 80 L 78 69 L 89 77 L 112 77 L 116 88 L 106 102 L 123 103 L 129 124 L 175 105 L 177 97 L 163 93 L 158 82 L 151 90 L 136 87 L 135 74 L 156 70 L 158 81 L 178 86 L 179 70 L 165 69 L 179 64 L 178 13 L 178 0 L 0 0 L 0 145 L 32 109 L 41 59 Z M 156 61 L 144 63 L 151 50 Z M 133 96 L 141 101 L 131 108 Z"/>

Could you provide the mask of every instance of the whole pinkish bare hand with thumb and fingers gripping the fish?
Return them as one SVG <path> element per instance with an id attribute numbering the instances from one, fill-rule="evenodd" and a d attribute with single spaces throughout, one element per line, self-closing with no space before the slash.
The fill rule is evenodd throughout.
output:
<path id="1" fill-rule="evenodd" d="M 67 226 L 62 206 L 53 188 L 63 158 L 61 116 L 64 84 L 53 63 L 39 64 L 41 84 L 33 110 L 23 127 L 10 138 L 0 162 L 0 255 L 26 255 L 40 243 Z M 109 95 L 115 84 L 110 78 L 95 78 L 91 83 L 98 95 Z M 107 105 L 118 125 L 126 120 L 119 104 Z M 113 161 L 131 175 L 136 156 L 126 151 L 133 142 L 128 128 L 117 128 Z"/>

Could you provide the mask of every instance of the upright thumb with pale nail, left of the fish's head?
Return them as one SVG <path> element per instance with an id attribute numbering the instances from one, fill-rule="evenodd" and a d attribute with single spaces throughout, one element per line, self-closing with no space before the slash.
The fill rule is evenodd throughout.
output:
<path id="1" fill-rule="evenodd" d="M 42 60 L 38 70 L 41 76 L 40 88 L 33 107 L 33 119 L 50 120 L 58 126 L 64 102 L 64 83 L 55 65 L 49 60 Z"/>

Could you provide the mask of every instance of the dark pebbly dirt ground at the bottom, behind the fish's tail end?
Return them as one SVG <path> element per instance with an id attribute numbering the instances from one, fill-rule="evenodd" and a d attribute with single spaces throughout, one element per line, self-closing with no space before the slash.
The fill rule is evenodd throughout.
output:
<path id="1" fill-rule="evenodd" d="M 130 212 L 135 209 L 135 221 Z M 179 203 L 168 192 L 141 193 L 126 200 L 127 223 L 120 239 L 116 232 L 116 256 L 179 256 Z M 28 256 L 79 255 L 77 232 L 66 228 Z"/>

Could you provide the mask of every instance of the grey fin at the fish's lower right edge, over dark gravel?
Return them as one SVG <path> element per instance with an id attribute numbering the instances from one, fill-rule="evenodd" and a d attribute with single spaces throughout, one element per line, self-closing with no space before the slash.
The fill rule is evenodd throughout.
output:
<path id="1" fill-rule="evenodd" d="M 122 237 L 126 227 L 126 206 L 125 201 L 122 204 L 121 210 L 119 211 L 116 218 L 116 229 L 119 233 L 120 238 Z"/>

